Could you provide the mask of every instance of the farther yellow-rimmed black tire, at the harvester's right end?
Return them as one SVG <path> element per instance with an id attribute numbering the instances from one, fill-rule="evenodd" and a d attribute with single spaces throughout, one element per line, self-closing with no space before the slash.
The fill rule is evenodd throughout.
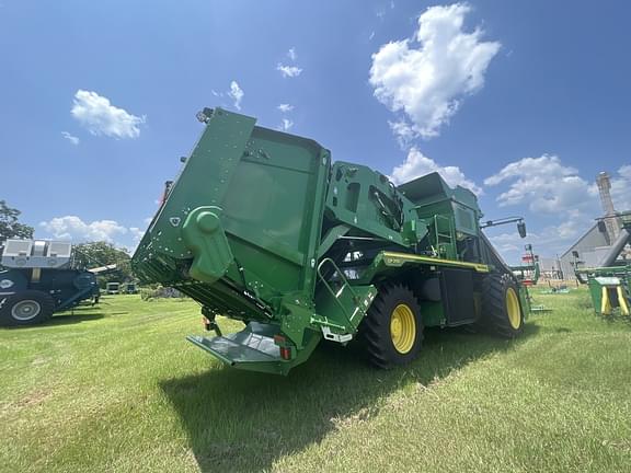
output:
<path id="1" fill-rule="evenodd" d="M 482 314 L 477 324 L 504 338 L 524 332 L 524 310 L 519 289 L 509 274 L 490 274 L 482 282 Z"/>

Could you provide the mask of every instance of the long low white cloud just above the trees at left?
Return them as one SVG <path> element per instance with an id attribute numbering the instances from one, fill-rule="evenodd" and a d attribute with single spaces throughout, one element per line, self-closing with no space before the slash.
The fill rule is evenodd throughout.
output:
<path id="1" fill-rule="evenodd" d="M 114 242 L 116 236 L 128 232 L 127 228 L 115 220 L 84 222 L 77 216 L 55 217 L 39 226 L 56 239 L 72 241 Z"/>

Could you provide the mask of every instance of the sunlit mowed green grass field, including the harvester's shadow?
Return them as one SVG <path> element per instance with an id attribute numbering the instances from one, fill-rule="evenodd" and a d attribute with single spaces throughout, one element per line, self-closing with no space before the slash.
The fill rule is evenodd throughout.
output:
<path id="1" fill-rule="evenodd" d="M 191 301 L 0 330 L 0 470 L 631 471 L 631 324 L 534 296 L 553 311 L 519 341 L 426 331 L 392 371 L 337 347 L 286 378 L 225 368 L 185 342 Z"/>

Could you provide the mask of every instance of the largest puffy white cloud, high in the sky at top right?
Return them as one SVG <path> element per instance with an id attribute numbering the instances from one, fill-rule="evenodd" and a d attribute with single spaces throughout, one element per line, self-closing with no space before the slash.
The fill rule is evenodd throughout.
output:
<path id="1" fill-rule="evenodd" d="M 500 50 L 483 32 L 462 30 L 471 11 L 466 3 L 428 8 L 412 38 L 388 43 L 372 55 L 375 96 L 399 114 L 395 134 L 432 138 L 449 122 L 463 97 L 484 85 L 484 74 Z"/>

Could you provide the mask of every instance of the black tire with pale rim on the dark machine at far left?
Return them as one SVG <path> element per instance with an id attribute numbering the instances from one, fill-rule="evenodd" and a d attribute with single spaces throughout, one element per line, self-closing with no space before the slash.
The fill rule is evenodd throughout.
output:
<path id="1" fill-rule="evenodd" d="M 0 302 L 2 300 L 0 299 Z M 55 310 L 53 297 L 37 290 L 25 290 L 3 300 L 0 325 L 34 325 L 47 321 Z"/>

